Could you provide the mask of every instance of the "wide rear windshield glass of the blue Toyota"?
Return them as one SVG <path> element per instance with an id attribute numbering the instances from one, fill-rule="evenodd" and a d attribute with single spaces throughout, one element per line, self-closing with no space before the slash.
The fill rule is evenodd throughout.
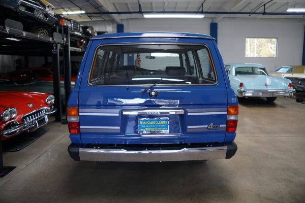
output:
<path id="1" fill-rule="evenodd" d="M 89 85 L 217 83 L 214 63 L 206 46 L 116 45 L 101 46 L 92 62 Z"/>

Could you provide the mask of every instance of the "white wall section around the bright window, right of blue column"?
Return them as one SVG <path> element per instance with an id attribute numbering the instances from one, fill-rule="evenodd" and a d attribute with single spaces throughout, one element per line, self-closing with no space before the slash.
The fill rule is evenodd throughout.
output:
<path id="1" fill-rule="evenodd" d="M 224 18 L 218 22 L 218 46 L 225 63 L 261 63 L 268 72 L 302 63 L 305 20 Z M 247 37 L 277 38 L 276 58 L 246 58 Z"/>

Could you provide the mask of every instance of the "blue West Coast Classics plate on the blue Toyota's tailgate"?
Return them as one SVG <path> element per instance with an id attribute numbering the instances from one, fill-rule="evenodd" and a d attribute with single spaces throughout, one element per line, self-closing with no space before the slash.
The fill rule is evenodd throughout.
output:
<path id="1" fill-rule="evenodd" d="M 164 118 L 138 118 L 139 133 L 169 133 L 168 129 L 169 119 Z"/>

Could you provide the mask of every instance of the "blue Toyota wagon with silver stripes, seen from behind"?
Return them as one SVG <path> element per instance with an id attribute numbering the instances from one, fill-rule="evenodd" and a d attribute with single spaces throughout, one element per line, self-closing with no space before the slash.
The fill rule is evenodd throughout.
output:
<path id="1" fill-rule="evenodd" d="M 215 39 L 180 32 L 95 36 L 67 108 L 74 160 L 231 158 L 238 101 Z"/>

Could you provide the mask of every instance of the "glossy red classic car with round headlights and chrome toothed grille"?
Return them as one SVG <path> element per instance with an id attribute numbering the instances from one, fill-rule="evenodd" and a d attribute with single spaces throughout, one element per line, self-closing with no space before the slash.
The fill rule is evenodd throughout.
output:
<path id="1" fill-rule="evenodd" d="M 17 134 L 32 132 L 47 124 L 56 109 L 52 94 L 26 91 L 0 91 L 0 134 L 7 140 Z"/>

